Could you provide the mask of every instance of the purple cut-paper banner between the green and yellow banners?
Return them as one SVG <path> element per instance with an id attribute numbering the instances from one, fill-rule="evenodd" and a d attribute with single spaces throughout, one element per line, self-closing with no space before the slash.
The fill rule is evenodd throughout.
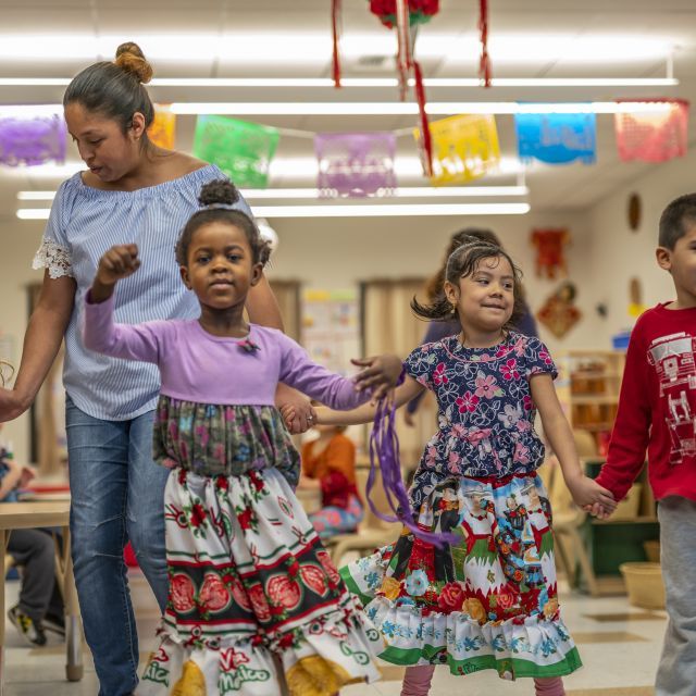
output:
<path id="1" fill-rule="evenodd" d="M 365 198 L 396 188 L 393 133 L 319 133 L 316 186 L 324 196 Z"/>

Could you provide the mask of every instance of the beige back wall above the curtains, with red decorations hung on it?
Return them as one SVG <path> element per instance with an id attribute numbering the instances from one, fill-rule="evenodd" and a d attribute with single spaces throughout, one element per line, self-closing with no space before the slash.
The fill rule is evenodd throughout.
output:
<path id="1" fill-rule="evenodd" d="M 524 285 L 536 311 L 560 279 L 537 278 L 535 249 L 530 243 L 533 227 L 567 226 L 573 236 L 568 248 L 570 278 L 579 288 L 577 306 L 587 315 L 591 295 L 582 276 L 591 263 L 589 228 L 581 212 L 556 212 L 490 217 L 365 217 L 348 220 L 272 221 L 281 244 L 274 256 L 271 279 L 297 278 L 306 287 L 352 287 L 364 279 L 425 277 L 442 262 L 449 237 L 464 226 L 489 227 L 524 273 Z M 594 336 L 581 322 L 567 338 L 558 340 L 539 327 L 551 350 L 563 346 L 593 347 Z"/>

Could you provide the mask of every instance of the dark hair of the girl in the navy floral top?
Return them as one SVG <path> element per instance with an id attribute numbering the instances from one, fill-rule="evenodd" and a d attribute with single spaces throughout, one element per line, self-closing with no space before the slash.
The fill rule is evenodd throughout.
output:
<path id="1" fill-rule="evenodd" d="M 484 259 L 506 259 L 512 269 L 512 296 L 514 298 L 514 304 L 512 315 L 504 328 L 512 328 L 523 313 L 522 272 L 514 264 L 510 254 L 501 247 L 488 241 L 481 241 L 473 237 L 470 239 L 471 241 L 464 241 L 464 244 L 457 247 L 449 254 L 443 269 L 443 284 L 435 296 L 430 298 L 430 303 L 421 304 L 415 297 L 413 297 L 411 300 L 411 309 L 418 316 L 430 321 L 456 319 L 457 315 L 452 314 L 452 307 L 445 295 L 444 282 L 449 281 L 452 285 L 459 285 L 460 278 L 469 277 L 475 273 L 478 264 Z"/>

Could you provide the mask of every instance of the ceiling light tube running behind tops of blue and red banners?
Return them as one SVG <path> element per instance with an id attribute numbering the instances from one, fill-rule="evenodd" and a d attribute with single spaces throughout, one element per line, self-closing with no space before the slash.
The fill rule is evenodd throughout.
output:
<path id="1" fill-rule="evenodd" d="M 512 101 L 430 101 L 431 115 L 515 114 L 515 113 L 647 113 L 668 111 L 669 104 L 616 101 L 518 103 Z M 0 109 L 0 113 L 1 113 Z M 418 104 L 399 101 L 314 101 L 314 102 L 175 102 L 172 112 L 192 115 L 415 115 Z"/>

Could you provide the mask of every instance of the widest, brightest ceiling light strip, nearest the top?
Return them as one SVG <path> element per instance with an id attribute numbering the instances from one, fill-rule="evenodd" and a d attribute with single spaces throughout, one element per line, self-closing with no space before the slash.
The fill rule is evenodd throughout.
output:
<path id="1" fill-rule="evenodd" d="M 285 55 L 288 63 L 318 63 L 330 60 L 330 32 L 209 32 L 187 34 L 138 34 L 132 40 L 139 44 L 153 61 L 185 61 L 210 63 L 222 61 L 273 63 Z M 667 58 L 681 37 L 646 38 L 618 34 L 522 34 L 494 33 L 488 39 L 488 52 L 494 63 L 536 61 L 601 61 L 632 62 Z M 687 37 L 684 38 L 687 40 Z M 123 35 L 83 34 L 2 34 L 0 58 L 14 60 L 95 61 L 111 59 Z M 301 49 L 301 50 L 300 50 Z M 372 55 L 394 55 L 394 33 L 375 29 L 369 33 L 345 33 L 340 41 L 346 59 Z M 421 32 L 417 53 L 421 58 L 478 61 L 481 45 L 474 32 Z"/>

